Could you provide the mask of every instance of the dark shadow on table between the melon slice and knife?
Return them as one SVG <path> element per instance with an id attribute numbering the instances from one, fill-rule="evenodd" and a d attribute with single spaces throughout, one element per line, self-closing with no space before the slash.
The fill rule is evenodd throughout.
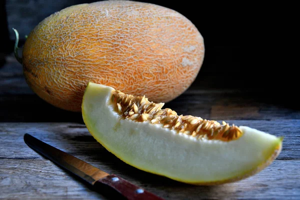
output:
<path id="1" fill-rule="evenodd" d="M 234 189 L 234 185 L 230 183 L 214 186 L 191 185 L 137 169 L 107 151 L 91 135 L 74 136 L 70 132 L 60 132 L 57 134 L 56 139 L 64 143 L 64 146 L 70 146 L 67 148 L 70 154 L 77 157 L 85 157 L 84 161 L 93 164 L 99 169 L 108 173 L 114 173 L 164 198 L 194 199 L 201 197 L 201 199 L 213 199 L 215 196 L 220 197 L 217 194 L 224 190 L 228 193 L 228 191 Z M 84 146 L 82 146 L 83 143 Z M 79 181 L 78 178 L 75 179 Z M 86 186 L 89 187 L 88 185 Z"/>

